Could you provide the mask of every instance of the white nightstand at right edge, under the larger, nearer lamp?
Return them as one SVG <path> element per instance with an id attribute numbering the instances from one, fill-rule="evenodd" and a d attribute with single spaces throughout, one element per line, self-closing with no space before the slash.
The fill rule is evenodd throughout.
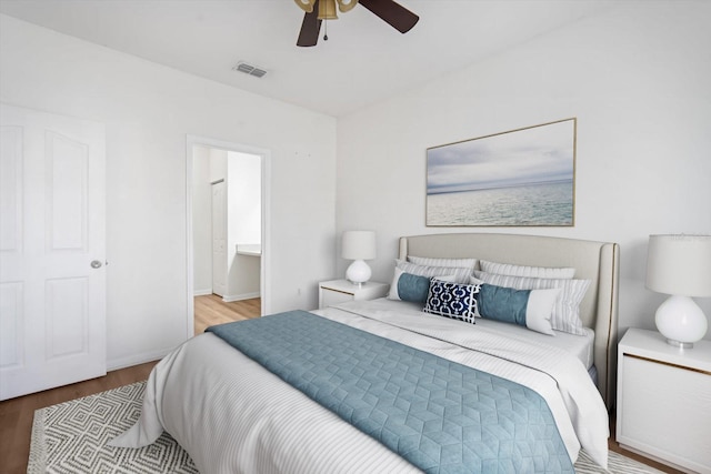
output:
<path id="1" fill-rule="evenodd" d="M 617 441 L 683 471 L 711 473 L 711 342 L 679 350 L 630 329 L 618 346 Z"/>

